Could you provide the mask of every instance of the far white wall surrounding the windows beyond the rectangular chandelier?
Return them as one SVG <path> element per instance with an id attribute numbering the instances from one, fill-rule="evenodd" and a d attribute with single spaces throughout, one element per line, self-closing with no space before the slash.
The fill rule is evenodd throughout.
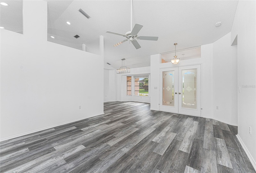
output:
<path id="1" fill-rule="evenodd" d="M 150 67 L 141 67 L 141 68 L 133 68 L 130 70 L 130 73 L 126 74 L 117 74 L 118 80 L 118 100 L 119 101 L 135 101 L 135 102 L 143 102 L 150 103 L 150 91 L 149 97 L 145 96 L 127 96 L 126 95 L 126 76 L 136 76 L 141 74 L 150 74 Z M 149 75 L 149 90 L 150 90 L 150 75 Z"/>

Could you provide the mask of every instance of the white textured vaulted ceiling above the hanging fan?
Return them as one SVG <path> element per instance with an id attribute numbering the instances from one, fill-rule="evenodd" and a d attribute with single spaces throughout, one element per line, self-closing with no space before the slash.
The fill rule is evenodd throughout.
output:
<path id="1" fill-rule="evenodd" d="M 4 2 L 1 0 L 1 2 Z M 48 0 L 48 40 L 82 48 L 99 54 L 99 36 L 104 36 L 104 62 L 119 68 L 121 59 L 130 68 L 150 66 L 150 55 L 213 43 L 231 31 L 238 1 L 157 1 L 133 0 L 132 27 L 144 27 L 138 35 L 158 36 L 158 41 L 138 40 L 140 49 L 125 42 L 124 37 L 106 33 L 125 34 L 130 31 L 130 1 Z M 11 7 L 11 6 L 9 6 Z M 85 18 L 82 8 L 92 18 Z M 71 25 L 67 25 L 69 21 Z M 220 27 L 215 23 L 221 21 Z M 2 23 L 2 6 L 1 6 Z M 81 36 L 75 39 L 73 36 Z M 55 39 L 50 36 L 55 36 Z"/>

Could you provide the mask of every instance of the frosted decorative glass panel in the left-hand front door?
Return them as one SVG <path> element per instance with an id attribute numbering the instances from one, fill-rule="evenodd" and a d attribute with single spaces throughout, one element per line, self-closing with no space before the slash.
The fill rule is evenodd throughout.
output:
<path id="1" fill-rule="evenodd" d="M 163 71 L 162 105 L 174 106 L 174 71 Z"/>

